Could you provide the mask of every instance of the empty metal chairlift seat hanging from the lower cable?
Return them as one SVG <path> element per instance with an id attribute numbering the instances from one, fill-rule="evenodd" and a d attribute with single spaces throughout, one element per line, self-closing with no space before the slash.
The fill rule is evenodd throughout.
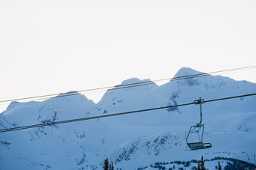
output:
<path id="1" fill-rule="evenodd" d="M 194 101 L 195 104 L 200 105 L 200 122 L 192 127 L 190 127 L 187 135 L 186 135 L 186 142 L 187 142 L 187 149 L 186 151 L 192 151 L 192 150 L 200 150 L 200 149 L 206 149 L 206 148 L 212 148 L 211 143 L 203 143 L 203 133 L 204 133 L 204 124 L 202 124 L 202 103 L 204 103 L 204 100 L 200 99 Z M 191 135 L 196 135 L 196 142 L 190 142 Z"/>

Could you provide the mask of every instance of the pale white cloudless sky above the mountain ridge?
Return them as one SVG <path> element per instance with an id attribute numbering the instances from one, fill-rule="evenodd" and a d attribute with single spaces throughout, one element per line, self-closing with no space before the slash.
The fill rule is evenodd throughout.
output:
<path id="1" fill-rule="evenodd" d="M 0 0 L 0 101 L 256 65 L 255 9 L 254 0 Z M 256 83 L 255 73 L 221 75 Z M 104 92 L 84 94 L 98 102 Z"/>

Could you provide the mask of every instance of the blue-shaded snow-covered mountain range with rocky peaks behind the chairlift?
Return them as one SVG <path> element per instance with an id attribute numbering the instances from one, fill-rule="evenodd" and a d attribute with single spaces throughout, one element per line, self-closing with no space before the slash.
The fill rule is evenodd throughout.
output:
<path id="1" fill-rule="evenodd" d="M 42 102 L 13 102 L 0 114 L 0 129 L 256 92 L 254 83 L 223 76 L 178 79 L 194 74 L 200 72 L 181 68 L 175 79 L 160 86 L 149 79 L 128 79 L 109 89 L 99 103 L 78 93 Z M 133 87 L 122 88 L 126 84 Z M 150 165 L 157 162 L 200 160 L 202 155 L 209 160 L 246 161 L 246 153 L 253 157 L 256 96 L 204 103 L 204 141 L 212 148 L 185 151 L 185 133 L 199 121 L 199 106 L 190 105 L 0 133 L 0 169 L 102 169 L 106 157 L 115 169 L 154 169 Z"/>

